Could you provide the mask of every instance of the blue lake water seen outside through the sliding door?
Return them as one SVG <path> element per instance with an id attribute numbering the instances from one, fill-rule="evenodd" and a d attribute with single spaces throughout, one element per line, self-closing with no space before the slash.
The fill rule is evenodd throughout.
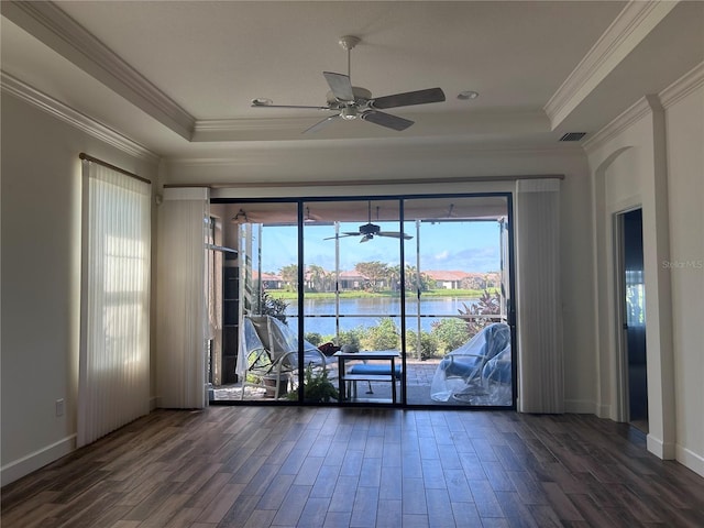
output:
<path id="1" fill-rule="evenodd" d="M 394 317 L 400 328 L 400 298 L 364 297 L 358 299 L 340 299 L 340 330 L 352 330 L 356 327 L 376 326 L 381 318 Z M 459 310 L 464 311 L 464 305 L 471 306 L 479 299 L 468 297 L 428 297 L 420 300 L 420 328 L 429 332 L 433 321 L 444 317 L 454 317 Z M 332 336 L 336 333 L 336 301 L 334 299 L 305 299 L 306 315 L 305 331 Z M 286 310 L 286 316 L 296 321 L 297 306 L 294 302 Z M 418 329 L 418 301 L 406 301 L 406 328 Z"/>

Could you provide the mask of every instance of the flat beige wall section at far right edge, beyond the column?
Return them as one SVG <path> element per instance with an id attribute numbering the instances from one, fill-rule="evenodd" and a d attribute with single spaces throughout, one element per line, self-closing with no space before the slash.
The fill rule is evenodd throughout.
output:
<path id="1" fill-rule="evenodd" d="M 676 459 L 704 475 L 704 86 L 668 106 Z"/>

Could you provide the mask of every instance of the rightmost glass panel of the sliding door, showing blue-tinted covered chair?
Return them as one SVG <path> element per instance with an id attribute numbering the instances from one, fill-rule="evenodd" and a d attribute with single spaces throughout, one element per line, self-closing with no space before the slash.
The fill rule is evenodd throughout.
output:
<path id="1" fill-rule="evenodd" d="M 405 229 L 416 230 L 404 252 L 409 405 L 512 405 L 510 376 L 498 376 L 510 373 L 510 331 L 496 328 L 492 342 L 482 332 L 505 321 L 506 218 L 502 196 L 404 201 Z"/>

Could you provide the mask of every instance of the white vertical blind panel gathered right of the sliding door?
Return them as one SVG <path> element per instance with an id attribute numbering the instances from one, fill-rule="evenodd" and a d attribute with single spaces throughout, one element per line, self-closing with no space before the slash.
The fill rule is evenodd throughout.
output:
<path id="1" fill-rule="evenodd" d="M 560 182 L 516 183 L 518 409 L 563 413 Z"/>

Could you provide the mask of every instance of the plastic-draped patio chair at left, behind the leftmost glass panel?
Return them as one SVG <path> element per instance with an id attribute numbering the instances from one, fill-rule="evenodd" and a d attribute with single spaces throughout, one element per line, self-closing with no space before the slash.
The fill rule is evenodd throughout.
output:
<path id="1" fill-rule="evenodd" d="M 238 356 L 238 374 L 242 378 L 240 399 L 244 399 L 246 386 L 264 387 L 278 399 L 287 389 L 297 386 L 298 336 L 271 316 L 245 316 L 242 324 L 242 346 Z M 306 366 L 328 369 L 326 355 L 306 340 L 304 361 Z"/>

